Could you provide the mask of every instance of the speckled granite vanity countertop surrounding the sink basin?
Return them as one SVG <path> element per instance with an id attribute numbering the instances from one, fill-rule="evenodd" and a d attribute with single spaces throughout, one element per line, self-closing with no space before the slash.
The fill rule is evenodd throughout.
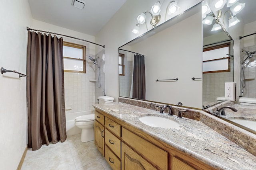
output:
<path id="1" fill-rule="evenodd" d="M 121 102 L 93 106 L 216 169 L 256 169 L 256 156 L 200 121 L 184 117 L 178 119 L 168 113 L 160 114 L 158 111 Z M 180 123 L 180 127 L 165 129 L 145 125 L 139 118 L 146 115 L 172 119 Z"/>

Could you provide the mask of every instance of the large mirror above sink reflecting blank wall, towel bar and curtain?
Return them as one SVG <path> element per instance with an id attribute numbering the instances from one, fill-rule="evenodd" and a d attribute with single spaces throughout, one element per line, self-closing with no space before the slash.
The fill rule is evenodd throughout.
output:
<path id="1" fill-rule="evenodd" d="M 124 55 L 120 96 L 202 108 L 201 10 L 198 4 L 119 48 L 119 54 Z M 143 68 L 134 61 L 140 55 L 144 55 L 145 82 L 142 74 L 136 76 L 133 71 Z M 134 96 L 134 91 L 144 88 L 145 95 Z"/>

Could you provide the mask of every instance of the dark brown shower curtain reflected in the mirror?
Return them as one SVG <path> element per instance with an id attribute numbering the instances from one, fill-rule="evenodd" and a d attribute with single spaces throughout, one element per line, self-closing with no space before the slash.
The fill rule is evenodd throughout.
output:
<path id="1" fill-rule="evenodd" d="M 134 55 L 132 98 L 146 99 L 144 55 Z"/>

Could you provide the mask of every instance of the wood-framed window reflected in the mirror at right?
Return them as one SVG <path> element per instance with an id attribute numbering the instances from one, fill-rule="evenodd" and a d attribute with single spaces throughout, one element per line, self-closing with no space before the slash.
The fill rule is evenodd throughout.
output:
<path id="1" fill-rule="evenodd" d="M 229 72 L 230 57 L 227 55 L 229 47 L 230 43 L 205 48 L 203 50 L 203 73 Z"/>

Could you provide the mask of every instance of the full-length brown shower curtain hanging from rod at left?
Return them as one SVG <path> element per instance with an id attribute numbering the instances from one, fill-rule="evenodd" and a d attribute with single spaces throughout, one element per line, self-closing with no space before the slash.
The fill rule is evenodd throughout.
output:
<path id="1" fill-rule="evenodd" d="M 28 31 L 28 147 L 66 140 L 63 39 Z"/>

